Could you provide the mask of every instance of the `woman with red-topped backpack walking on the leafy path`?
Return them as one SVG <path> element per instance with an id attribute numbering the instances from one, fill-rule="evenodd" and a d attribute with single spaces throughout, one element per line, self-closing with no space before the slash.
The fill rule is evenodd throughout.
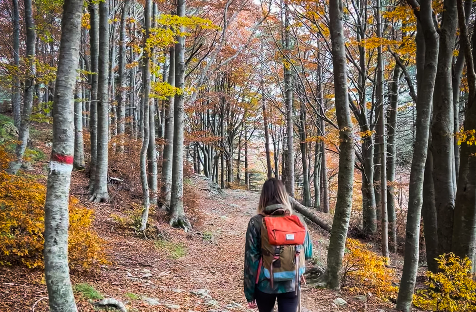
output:
<path id="1" fill-rule="evenodd" d="M 272 312 L 278 299 L 279 312 L 296 312 L 305 261 L 311 257 L 312 242 L 305 223 L 293 215 L 283 183 L 269 178 L 261 190 L 258 214 L 249 220 L 246 233 L 244 289 L 248 307 Z"/>

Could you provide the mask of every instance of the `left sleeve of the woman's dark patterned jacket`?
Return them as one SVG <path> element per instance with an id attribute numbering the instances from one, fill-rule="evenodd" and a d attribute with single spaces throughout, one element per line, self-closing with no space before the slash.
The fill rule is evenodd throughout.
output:
<path id="1" fill-rule="evenodd" d="M 261 255 L 260 249 L 261 233 L 259 217 L 255 216 L 249 220 L 248 230 L 246 231 L 243 286 L 248 302 L 253 301 L 255 296 L 256 274 L 258 272 L 259 257 Z"/>

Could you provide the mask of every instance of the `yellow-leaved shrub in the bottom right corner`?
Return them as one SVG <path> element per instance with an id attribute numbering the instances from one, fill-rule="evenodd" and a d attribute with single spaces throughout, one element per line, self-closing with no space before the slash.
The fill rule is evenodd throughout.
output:
<path id="1" fill-rule="evenodd" d="M 437 260 L 438 273 L 426 272 L 428 289 L 417 291 L 414 304 L 428 311 L 476 311 L 476 282 L 471 273 L 471 260 L 453 253 L 443 254 Z"/>

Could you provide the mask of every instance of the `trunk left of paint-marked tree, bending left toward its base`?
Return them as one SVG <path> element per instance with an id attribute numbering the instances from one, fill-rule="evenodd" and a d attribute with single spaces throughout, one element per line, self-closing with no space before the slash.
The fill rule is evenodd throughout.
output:
<path id="1" fill-rule="evenodd" d="M 26 36 L 26 54 L 27 54 L 27 78 L 25 79 L 25 93 L 23 96 L 23 112 L 21 113 L 20 128 L 18 129 L 18 141 L 19 143 L 15 147 L 15 160 L 10 162 L 10 167 L 8 172 L 10 174 L 16 174 L 20 169 L 23 163 L 23 155 L 25 155 L 25 150 L 27 148 L 28 139 L 30 137 L 30 116 L 31 109 L 33 107 L 33 96 L 35 92 L 35 76 L 36 76 L 36 66 L 35 66 L 35 42 L 36 42 L 36 32 L 35 32 L 35 22 L 33 20 L 33 10 L 31 0 L 25 0 L 25 29 L 27 32 Z"/>

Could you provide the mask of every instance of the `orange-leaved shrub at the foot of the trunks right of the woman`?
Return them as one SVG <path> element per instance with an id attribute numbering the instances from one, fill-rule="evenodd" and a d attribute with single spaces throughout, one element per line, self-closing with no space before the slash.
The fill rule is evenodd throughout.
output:
<path id="1" fill-rule="evenodd" d="M 347 238 L 342 283 L 350 293 L 374 293 L 381 299 L 397 298 L 395 270 L 388 259 L 368 250 L 366 244 Z"/>

